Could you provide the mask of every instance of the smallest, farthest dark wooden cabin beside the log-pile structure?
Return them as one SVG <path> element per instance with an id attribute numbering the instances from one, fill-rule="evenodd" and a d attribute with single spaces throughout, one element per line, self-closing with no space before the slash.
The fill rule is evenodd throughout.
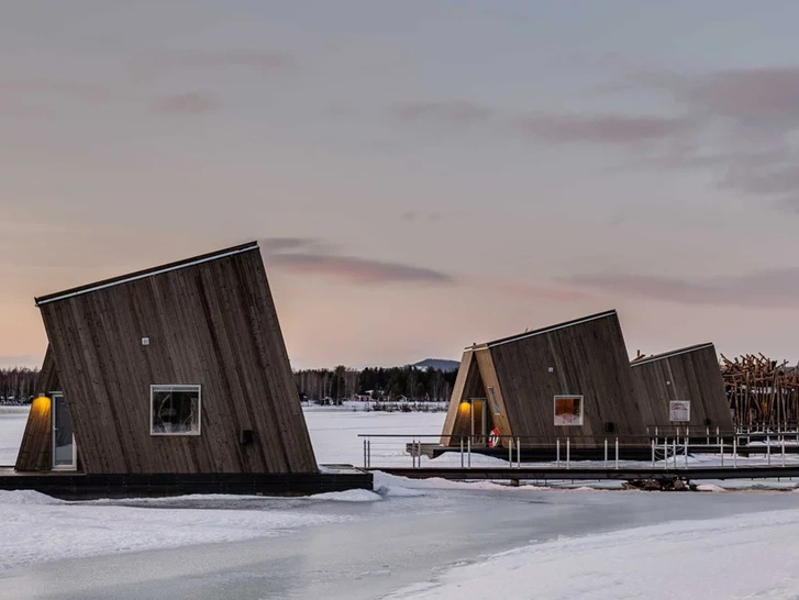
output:
<path id="1" fill-rule="evenodd" d="M 651 430 L 732 430 L 730 402 L 713 344 L 636 358 L 630 366 L 639 397 L 652 407 L 653 420 L 646 423 Z"/>

